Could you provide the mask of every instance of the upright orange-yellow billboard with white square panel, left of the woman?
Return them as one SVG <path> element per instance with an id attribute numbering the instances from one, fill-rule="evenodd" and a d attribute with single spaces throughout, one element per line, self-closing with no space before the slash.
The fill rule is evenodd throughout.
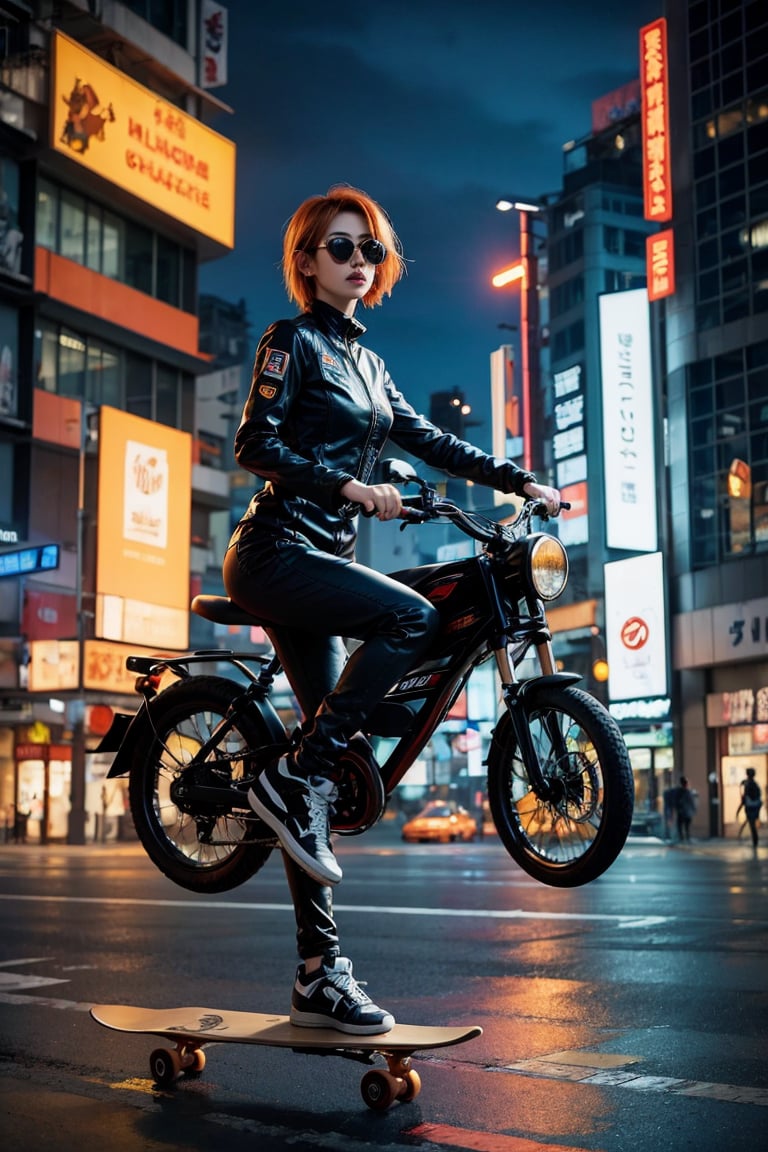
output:
<path id="1" fill-rule="evenodd" d="M 192 438 L 101 408 L 96 635 L 185 649 Z"/>

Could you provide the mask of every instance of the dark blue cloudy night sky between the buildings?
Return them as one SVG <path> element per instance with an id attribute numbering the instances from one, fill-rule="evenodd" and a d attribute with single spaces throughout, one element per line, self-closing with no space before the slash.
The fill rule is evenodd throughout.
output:
<path id="1" fill-rule="evenodd" d="M 283 226 L 334 183 L 387 210 L 409 260 L 382 305 L 358 306 L 364 342 L 416 408 L 463 388 L 491 448 L 488 357 L 517 334 L 518 257 L 502 195 L 562 185 L 563 144 L 586 136 L 592 101 L 639 75 L 638 31 L 661 0 L 229 0 L 234 109 L 212 127 L 237 144 L 236 247 L 205 265 L 200 290 L 245 300 L 253 342 L 291 316 Z"/>

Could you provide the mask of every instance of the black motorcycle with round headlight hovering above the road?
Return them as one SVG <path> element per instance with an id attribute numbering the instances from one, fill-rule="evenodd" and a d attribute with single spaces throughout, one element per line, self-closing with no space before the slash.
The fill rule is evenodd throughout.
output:
<path id="1" fill-rule="evenodd" d="M 439 495 L 402 461 L 386 468 L 389 483 L 418 486 L 418 494 L 403 498 L 401 529 L 448 520 L 480 547 L 465 559 L 390 574 L 435 605 L 442 627 L 418 667 L 393 684 L 366 732 L 350 741 L 332 828 L 355 835 L 381 818 L 472 672 L 493 660 L 501 717 L 485 764 L 499 836 L 537 880 L 564 888 L 587 884 L 624 846 L 634 788 L 616 721 L 576 687 L 578 675 L 556 669 L 545 605 L 565 588 L 565 547 L 533 531 L 534 516 L 547 518 L 537 501 L 524 502 L 510 523 L 497 523 Z M 197 596 L 191 608 L 221 624 L 264 624 L 223 596 Z M 529 655 L 537 674 L 518 679 Z M 108 778 L 129 778 L 144 849 L 192 892 L 243 884 L 277 846 L 250 808 L 248 790 L 301 737 L 271 699 L 281 672 L 276 655 L 205 650 L 129 655 L 126 664 L 137 673 L 142 703 L 134 714 L 115 714 L 97 751 L 116 752 Z M 229 665 L 235 679 L 201 674 L 200 666 L 211 664 Z"/>

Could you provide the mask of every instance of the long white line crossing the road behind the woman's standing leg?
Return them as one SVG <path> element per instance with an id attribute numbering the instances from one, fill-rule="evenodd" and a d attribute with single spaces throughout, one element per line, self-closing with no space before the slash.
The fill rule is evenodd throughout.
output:
<path id="1" fill-rule="evenodd" d="M 104 904 L 108 908 L 204 908 L 207 912 L 231 910 L 233 908 L 250 912 L 290 912 L 292 904 L 251 903 L 238 900 L 145 900 L 138 896 L 30 896 L 1 893 L 0 900 L 16 900 L 31 903 L 53 901 L 59 904 Z M 482 920 L 569 920 L 616 924 L 621 929 L 655 927 L 659 924 L 670 924 L 676 916 L 626 916 L 622 912 L 529 912 L 523 908 L 404 908 L 380 907 L 379 904 L 334 904 L 336 912 L 365 912 L 377 916 L 438 916 Z"/>

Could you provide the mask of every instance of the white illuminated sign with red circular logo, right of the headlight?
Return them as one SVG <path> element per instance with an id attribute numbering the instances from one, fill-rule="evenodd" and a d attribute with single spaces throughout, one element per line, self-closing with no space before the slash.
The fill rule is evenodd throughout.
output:
<path id="1" fill-rule="evenodd" d="M 608 695 L 667 695 L 667 627 L 661 552 L 604 566 Z"/>

